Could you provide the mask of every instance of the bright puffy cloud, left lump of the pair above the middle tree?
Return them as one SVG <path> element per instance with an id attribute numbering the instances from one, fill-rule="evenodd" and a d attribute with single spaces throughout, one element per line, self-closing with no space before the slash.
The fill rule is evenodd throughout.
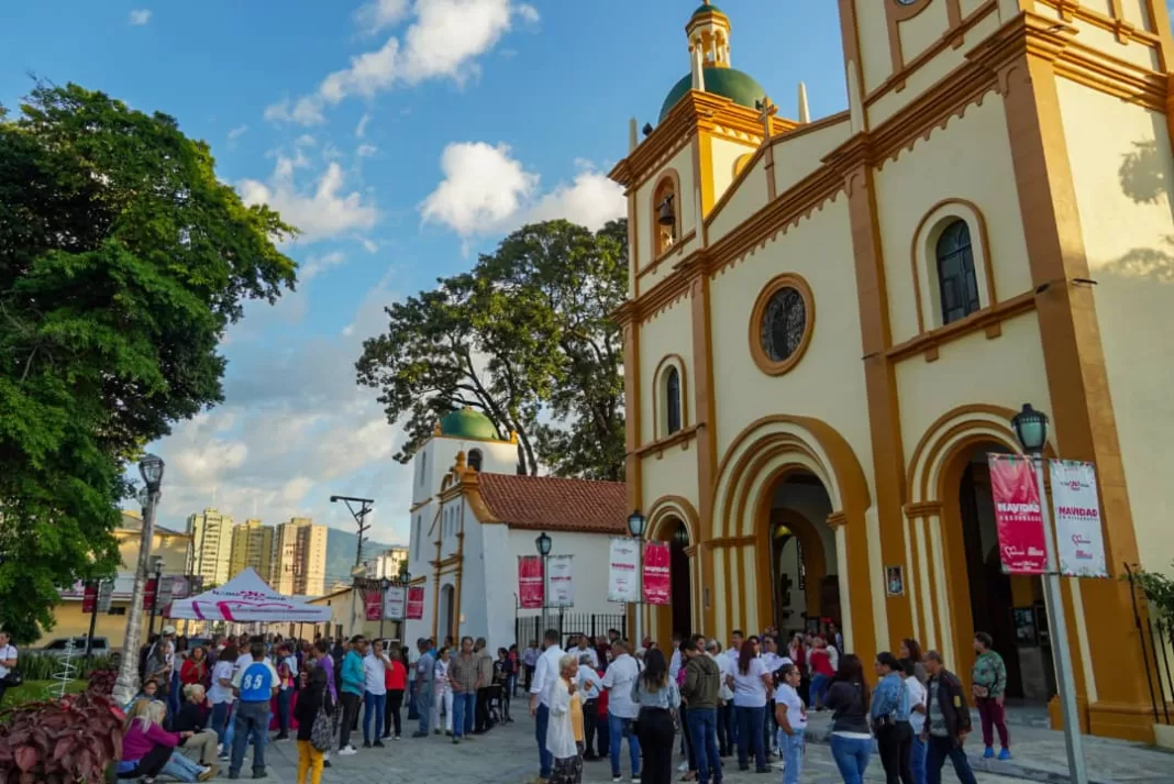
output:
<path id="1" fill-rule="evenodd" d="M 420 211 L 426 223 L 443 223 L 467 237 L 484 234 L 518 215 L 538 188 L 539 176 L 510 155 L 510 147 L 458 142 L 440 156 L 445 178 Z"/>

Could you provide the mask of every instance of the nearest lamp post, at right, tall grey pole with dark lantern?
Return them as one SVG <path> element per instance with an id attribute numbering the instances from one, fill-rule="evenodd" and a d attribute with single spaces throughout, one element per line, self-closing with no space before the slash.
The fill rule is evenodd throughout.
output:
<path id="1" fill-rule="evenodd" d="M 1064 601 L 1060 595 L 1060 569 L 1052 533 L 1052 509 L 1045 492 L 1046 464 L 1041 453 L 1047 442 L 1047 415 L 1035 411 L 1030 403 L 1025 403 L 1023 411 L 1012 418 L 1011 425 L 1035 468 L 1035 487 L 1039 492 L 1039 512 L 1044 521 L 1044 549 L 1047 557 L 1044 572 L 1044 607 L 1047 613 L 1047 628 L 1052 630 L 1052 658 L 1055 663 L 1060 715 L 1064 717 L 1068 771 L 1072 784 L 1088 784 L 1084 739 L 1080 736 L 1080 719 L 1077 715 L 1077 685 L 1072 677 L 1072 651 L 1068 649 L 1068 621 L 1064 614 Z"/>

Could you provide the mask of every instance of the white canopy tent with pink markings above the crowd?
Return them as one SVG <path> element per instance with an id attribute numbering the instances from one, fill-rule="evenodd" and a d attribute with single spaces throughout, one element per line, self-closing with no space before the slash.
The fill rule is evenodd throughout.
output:
<path id="1" fill-rule="evenodd" d="M 171 603 L 173 619 L 229 621 L 232 623 L 324 623 L 329 607 L 310 604 L 302 596 L 285 596 L 265 584 L 254 569 L 236 575 L 220 588 Z"/>

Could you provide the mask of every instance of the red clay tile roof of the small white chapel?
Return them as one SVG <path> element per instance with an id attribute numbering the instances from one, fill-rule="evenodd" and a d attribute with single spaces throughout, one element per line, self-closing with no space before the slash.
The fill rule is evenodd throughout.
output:
<path id="1" fill-rule="evenodd" d="M 558 477 L 478 474 L 481 499 L 511 528 L 628 532 L 628 494 L 623 482 Z"/>

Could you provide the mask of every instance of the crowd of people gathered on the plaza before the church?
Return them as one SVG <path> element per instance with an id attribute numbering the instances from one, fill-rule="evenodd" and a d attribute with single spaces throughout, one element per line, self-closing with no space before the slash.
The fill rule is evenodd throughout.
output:
<path id="1" fill-rule="evenodd" d="M 122 778 L 207 780 L 228 763 L 236 779 L 250 749 L 252 776 L 262 778 L 266 744 L 296 732 L 297 782 L 319 784 L 331 753 L 399 741 L 405 705 L 409 721 L 418 721 L 412 737 L 443 734 L 460 744 L 512 722 L 511 702 L 525 690 L 540 784 L 579 784 L 585 763 L 603 759 L 613 782 L 625 780 L 627 768 L 633 784 L 667 784 L 675 750 L 682 780 L 717 784 L 731 758 L 738 770 L 769 772 L 777 758 L 784 784 L 796 784 L 809 710 L 831 711 L 831 752 L 845 784 L 863 782 L 873 744 L 889 784 L 939 784 L 947 759 L 962 784 L 974 783 L 963 751 L 969 696 L 940 654 L 923 654 L 915 640 L 876 657 L 875 687 L 865 664 L 842 653 L 834 626 L 789 640 L 774 629 L 735 630 L 724 648 L 703 635 L 661 647 L 650 638 L 634 646 L 615 629 L 566 641 L 548 630 L 541 646 L 499 648 L 495 656 L 472 637 L 441 646 L 420 638 L 412 651 L 362 636 L 188 643 L 167 627 L 141 653 L 143 687 L 127 705 Z M 994 756 L 998 730 L 1006 759 L 1006 668 L 991 647 L 990 636 L 976 635 L 970 698 L 986 756 Z"/>

